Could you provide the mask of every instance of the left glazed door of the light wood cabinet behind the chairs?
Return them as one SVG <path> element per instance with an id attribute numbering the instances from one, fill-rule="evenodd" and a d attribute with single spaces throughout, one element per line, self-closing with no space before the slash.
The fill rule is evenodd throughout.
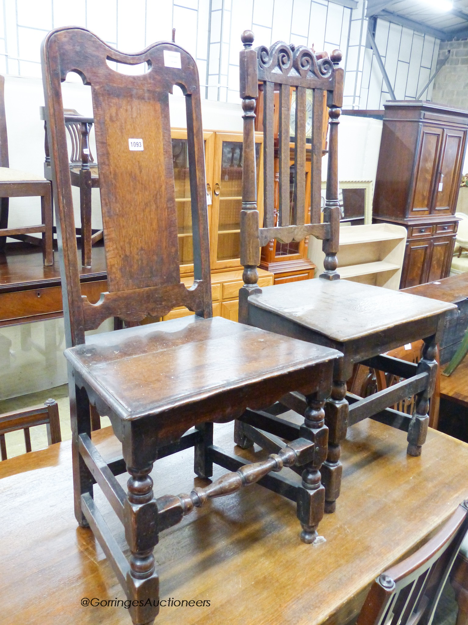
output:
<path id="1" fill-rule="evenodd" d="M 177 239 L 180 274 L 193 274 L 192 206 L 188 174 L 187 130 L 171 129 L 172 164 L 174 169 L 175 206 L 177 210 Z M 203 133 L 205 143 L 205 173 L 207 179 L 208 227 L 212 215 L 213 147 L 215 133 Z"/>

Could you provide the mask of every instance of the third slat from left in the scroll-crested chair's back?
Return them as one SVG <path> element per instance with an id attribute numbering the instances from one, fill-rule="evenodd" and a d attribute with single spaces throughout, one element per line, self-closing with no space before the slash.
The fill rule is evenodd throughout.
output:
<path id="1" fill-rule="evenodd" d="M 296 87 L 293 223 L 298 225 L 304 223 L 306 211 L 306 96 L 305 87 Z"/>

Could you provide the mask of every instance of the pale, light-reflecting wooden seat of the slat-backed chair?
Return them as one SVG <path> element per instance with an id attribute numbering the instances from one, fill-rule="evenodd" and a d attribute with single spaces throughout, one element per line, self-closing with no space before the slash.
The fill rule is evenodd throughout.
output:
<path id="1" fill-rule="evenodd" d="M 321 279 L 264 287 L 248 302 L 339 342 L 438 316 L 454 307 L 437 299 L 370 284 Z"/>

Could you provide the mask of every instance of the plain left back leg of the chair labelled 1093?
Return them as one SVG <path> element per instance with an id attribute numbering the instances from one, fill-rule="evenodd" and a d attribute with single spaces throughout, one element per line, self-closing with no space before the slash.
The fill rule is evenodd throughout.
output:
<path id="1" fill-rule="evenodd" d="M 75 516 L 80 527 L 89 527 L 82 512 L 81 496 L 89 493 L 93 496 L 93 478 L 79 452 L 79 435 L 87 434 L 91 437 L 91 418 L 89 412 L 89 400 L 84 389 L 80 389 L 69 375 L 70 392 L 70 417 L 72 427 L 72 466 L 73 466 L 73 492 L 75 504 Z"/>

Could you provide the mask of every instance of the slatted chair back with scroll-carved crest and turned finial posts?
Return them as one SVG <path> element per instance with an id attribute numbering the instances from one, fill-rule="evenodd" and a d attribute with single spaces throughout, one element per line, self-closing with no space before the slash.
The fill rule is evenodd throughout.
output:
<path id="1" fill-rule="evenodd" d="M 246 299 L 256 286 L 260 264 L 260 247 L 270 239 L 289 243 L 302 241 L 313 235 L 323 239 L 325 271 L 320 277 L 339 278 L 336 272 L 336 254 L 339 244 L 338 200 L 338 123 L 343 104 L 343 69 L 339 68 L 341 52 L 334 50 L 331 58 L 318 59 L 305 46 L 288 46 L 278 41 L 268 49 L 252 48 L 253 32 L 244 31 L 240 53 L 240 97 L 242 98 L 243 134 L 243 184 L 241 228 L 241 259 L 244 266 L 244 286 L 240 291 L 239 318 L 245 321 Z M 256 209 L 255 177 L 255 101 L 258 98 L 258 81 L 263 81 L 263 184 L 264 219 L 259 227 Z M 279 160 L 279 215 L 275 226 L 275 137 L 273 121 L 275 84 L 280 86 L 280 125 L 278 132 Z M 293 210 L 290 211 L 290 91 L 296 90 L 296 121 L 294 169 L 295 188 Z M 313 89 L 313 114 L 311 137 L 311 220 L 305 224 L 306 207 L 306 91 Z M 323 91 L 327 92 L 329 116 L 328 176 L 323 223 L 320 222 Z"/>

